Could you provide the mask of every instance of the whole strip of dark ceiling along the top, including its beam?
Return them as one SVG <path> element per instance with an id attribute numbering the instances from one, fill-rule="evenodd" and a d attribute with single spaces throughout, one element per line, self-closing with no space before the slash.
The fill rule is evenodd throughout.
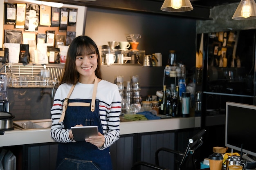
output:
<path id="1" fill-rule="evenodd" d="M 106 9 L 120 9 L 128 11 L 137 11 L 143 13 L 154 13 L 159 15 L 172 15 L 175 17 L 191 18 L 196 20 L 212 20 L 210 18 L 210 9 L 225 4 L 238 3 L 240 0 L 190 0 L 193 6 L 192 11 L 186 12 L 166 12 L 161 11 L 160 7 L 164 0 L 96 0 L 91 2 L 82 2 L 76 0 L 45 0 L 61 2 L 86 7 L 97 7 Z M 145 5 L 145 2 L 146 5 Z"/>

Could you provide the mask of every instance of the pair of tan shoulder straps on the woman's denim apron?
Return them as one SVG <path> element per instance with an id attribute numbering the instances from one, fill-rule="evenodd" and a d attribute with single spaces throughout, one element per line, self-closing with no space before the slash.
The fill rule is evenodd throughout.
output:
<path id="1" fill-rule="evenodd" d="M 72 91 L 74 90 L 74 87 L 75 87 L 75 84 L 73 84 L 73 86 L 70 88 L 70 91 L 69 91 L 67 97 L 64 99 L 62 113 L 61 113 L 61 118 L 60 118 L 60 120 L 58 122 L 61 122 L 61 121 L 64 120 L 65 112 L 67 110 L 67 101 L 68 101 Z M 92 112 L 94 112 L 94 110 L 95 110 L 95 101 L 96 101 L 97 87 L 98 87 L 98 78 L 97 78 L 97 76 L 95 76 L 94 87 L 93 87 L 93 92 L 92 92 L 92 104 L 91 104 L 91 111 Z"/>

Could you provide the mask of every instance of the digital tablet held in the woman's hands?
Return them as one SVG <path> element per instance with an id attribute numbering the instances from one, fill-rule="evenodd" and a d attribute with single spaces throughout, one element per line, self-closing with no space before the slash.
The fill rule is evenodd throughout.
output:
<path id="1" fill-rule="evenodd" d="M 91 136 L 98 136 L 98 126 L 76 126 L 71 127 L 74 140 L 84 141 Z"/>

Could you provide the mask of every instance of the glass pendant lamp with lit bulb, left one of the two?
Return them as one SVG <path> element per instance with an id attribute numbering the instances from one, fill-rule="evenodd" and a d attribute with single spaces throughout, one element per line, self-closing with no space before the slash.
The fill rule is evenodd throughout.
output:
<path id="1" fill-rule="evenodd" d="M 184 12 L 193 9 L 189 0 L 164 0 L 161 7 L 162 11 L 166 12 Z"/>

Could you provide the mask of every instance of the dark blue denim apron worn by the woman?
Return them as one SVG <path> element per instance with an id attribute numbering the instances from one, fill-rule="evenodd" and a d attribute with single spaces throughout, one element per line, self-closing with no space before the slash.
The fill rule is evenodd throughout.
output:
<path id="1" fill-rule="evenodd" d="M 98 126 L 99 132 L 103 134 L 99 116 L 99 100 L 95 99 L 97 83 L 96 77 L 92 99 L 68 99 L 63 120 L 65 129 L 70 129 L 77 124 Z M 86 141 L 59 143 L 56 166 L 56 170 L 112 170 L 109 147 L 99 150 L 97 146 Z"/>

